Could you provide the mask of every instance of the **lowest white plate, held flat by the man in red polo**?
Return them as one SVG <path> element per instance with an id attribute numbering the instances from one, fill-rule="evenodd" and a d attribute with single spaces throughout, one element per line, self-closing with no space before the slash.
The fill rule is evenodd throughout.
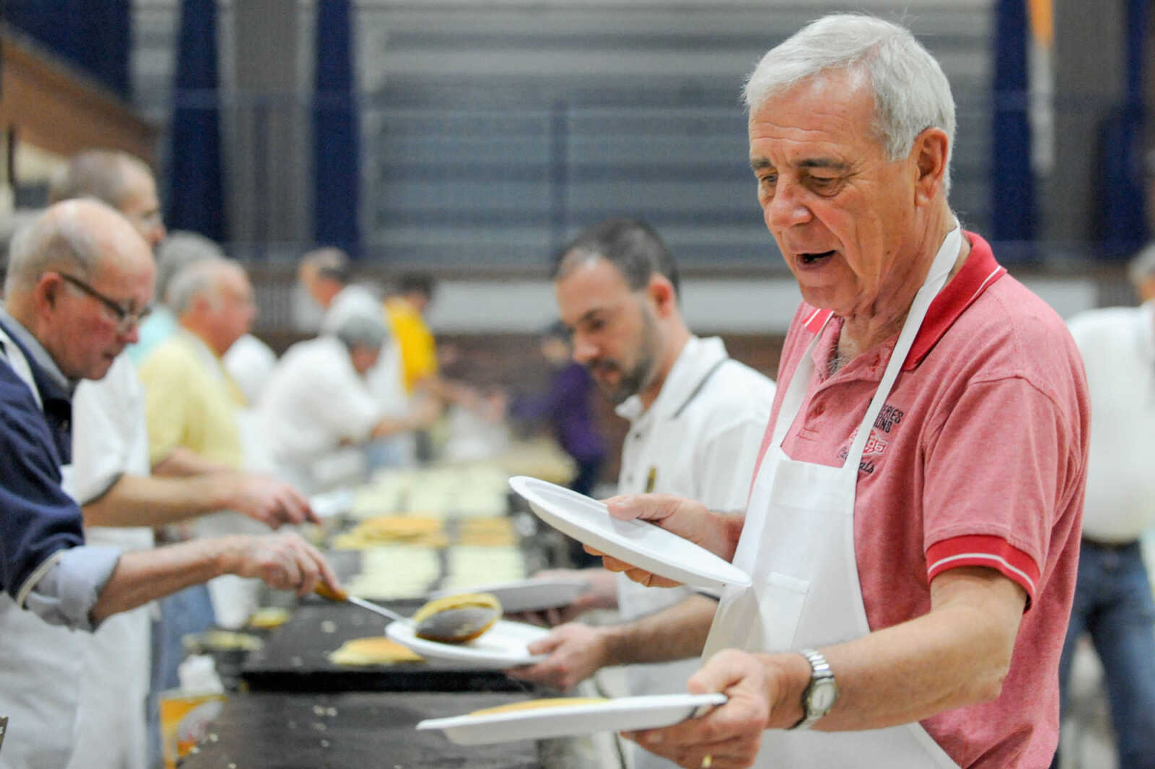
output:
<path id="1" fill-rule="evenodd" d="M 440 729 L 457 745 L 542 740 L 590 732 L 671 726 L 725 701 L 724 694 L 657 694 L 539 710 L 432 718 L 417 724 L 417 729 Z"/>

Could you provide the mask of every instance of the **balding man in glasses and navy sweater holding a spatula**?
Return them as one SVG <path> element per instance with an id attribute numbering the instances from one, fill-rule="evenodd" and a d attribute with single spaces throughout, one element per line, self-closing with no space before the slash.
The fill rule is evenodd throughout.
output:
<path id="1" fill-rule="evenodd" d="M 301 593 L 334 580 L 296 535 L 137 552 L 85 542 L 69 466 L 72 395 L 135 341 L 152 276 L 144 240 L 96 201 L 52 206 L 13 242 L 0 311 L 0 712 L 9 718 L 0 769 L 65 767 L 83 745 L 92 657 L 85 635 L 66 628 L 92 630 L 221 574 Z M 76 762 L 106 757 L 97 748 Z"/>

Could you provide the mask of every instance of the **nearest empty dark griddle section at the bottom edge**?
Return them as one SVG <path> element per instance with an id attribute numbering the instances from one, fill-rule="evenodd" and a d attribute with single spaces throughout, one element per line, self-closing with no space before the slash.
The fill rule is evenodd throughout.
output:
<path id="1" fill-rule="evenodd" d="M 537 744 L 455 745 L 425 718 L 519 702 L 514 694 L 247 694 L 229 699 L 181 769 L 541 769 Z M 551 762 L 552 763 L 552 762 Z"/>

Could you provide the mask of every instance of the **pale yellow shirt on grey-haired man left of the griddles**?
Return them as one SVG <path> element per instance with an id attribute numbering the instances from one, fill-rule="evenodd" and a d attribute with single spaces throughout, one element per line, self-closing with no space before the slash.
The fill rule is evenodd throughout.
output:
<path id="1" fill-rule="evenodd" d="M 237 409 L 245 400 L 203 342 L 178 331 L 148 354 L 140 376 L 152 464 L 184 447 L 206 460 L 241 468 Z"/>

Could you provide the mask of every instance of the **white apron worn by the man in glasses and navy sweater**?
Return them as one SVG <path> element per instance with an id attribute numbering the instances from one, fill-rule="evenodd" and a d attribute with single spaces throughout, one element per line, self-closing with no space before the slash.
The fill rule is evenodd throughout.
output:
<path id="1" fill-rule="evenodd" d="M 20 348 L 0 330 L 5 357 L 32 390 L 40 394 Z M 42 406 L 43 408 L 43 406 Z M 61 469 L 72 494 L 70 469 Z M 49 625 L 0 593 L 0 716 L 8 731 L 0 748 L 0 769 L 60 769 L 76 741 L 83 658 L 74 632 Z"/>

